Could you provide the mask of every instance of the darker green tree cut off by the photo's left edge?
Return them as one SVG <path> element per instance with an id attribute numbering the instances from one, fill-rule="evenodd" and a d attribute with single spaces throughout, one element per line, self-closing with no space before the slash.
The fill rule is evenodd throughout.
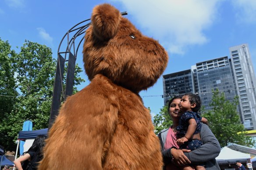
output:
<path id="1" fill-rule="evenodd" d="M 0 39 L 0 127 L 4 118 L 13 110 L 18 95 L 13 67 L 13 59 L 16 55 L 15 51 L 11 50 L 11 45 Z M 6 129 L 0 130 L 0 136 L 1 145 L 9 145 L 10 141 L 13 143 Z"/>

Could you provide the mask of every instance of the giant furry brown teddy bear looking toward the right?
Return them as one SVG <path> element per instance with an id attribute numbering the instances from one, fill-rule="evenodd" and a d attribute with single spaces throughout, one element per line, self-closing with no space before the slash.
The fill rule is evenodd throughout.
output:
<path id="1" fill-rule="evenodd" d="M 91 19 L 83 45 L 91 82 L 62 105 L 39 170 L 160 170 L 160 142 L 139 92 L 156 83 L 167 52 L 110 4 Z"/>

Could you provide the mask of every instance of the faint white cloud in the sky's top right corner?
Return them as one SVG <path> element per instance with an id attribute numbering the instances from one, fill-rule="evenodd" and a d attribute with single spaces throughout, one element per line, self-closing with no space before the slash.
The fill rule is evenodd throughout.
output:
<path id="1" fill-rule="evenodd" d="M 232 0 L 235 7 L 236 17 L 239 22 L 255 24 L 256 0 Z"/>

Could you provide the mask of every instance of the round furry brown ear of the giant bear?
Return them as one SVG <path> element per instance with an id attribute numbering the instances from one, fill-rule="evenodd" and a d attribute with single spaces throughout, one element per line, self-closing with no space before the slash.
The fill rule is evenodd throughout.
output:
<path id="1" fill-rule="evenodd" d="M 92 11 L 93 34 L 101 41 L 107 41 L 117 33 L 121 21 L 121 13 L 110 4 L 97 5 Z"/>

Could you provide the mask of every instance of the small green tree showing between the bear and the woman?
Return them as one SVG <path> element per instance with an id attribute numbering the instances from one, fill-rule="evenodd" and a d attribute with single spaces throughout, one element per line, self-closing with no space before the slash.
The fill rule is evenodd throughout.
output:
<path id="1" fill-rule="evenodd" d="M 172 125 L 172 119 L 168 112 L 168 104 L 160 109 L 160 113 L 153 118 L 153 125 L 155 126 L 155 133 L 158 134 L 161 130 L 169 128 Z"/>

